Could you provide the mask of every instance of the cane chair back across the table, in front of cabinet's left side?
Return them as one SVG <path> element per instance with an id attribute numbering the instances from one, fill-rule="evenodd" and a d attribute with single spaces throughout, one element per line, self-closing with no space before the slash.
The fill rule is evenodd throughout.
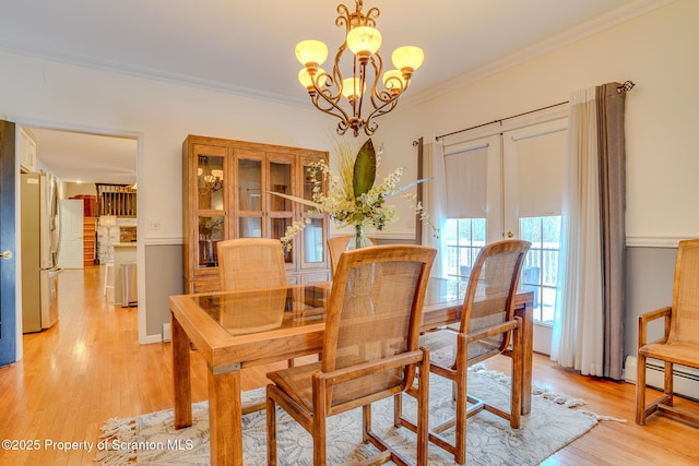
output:
<path id="1" fill-rule="evenodd" d="M 284 252 L 279 239 L 236 238 L 217 242 L 222 291 L 286 286 Z"/>

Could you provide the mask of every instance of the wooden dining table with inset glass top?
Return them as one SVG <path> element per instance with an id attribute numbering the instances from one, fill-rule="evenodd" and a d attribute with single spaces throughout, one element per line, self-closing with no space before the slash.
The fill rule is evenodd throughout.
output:
<path id="1" fill-rule="evenodd" d="M 242 465 L 240 370 L 319 354 L 331 283 L 169 297 L 175 428 L 192 425 L 190 356 L 208 367 L 212 465 Z M 423 304 L 424 332 L 461 319 L 467 282 L 430 277 Z M 514 298 L 522 322 L 522 415 L 531 408 L 533 292 Z"/>

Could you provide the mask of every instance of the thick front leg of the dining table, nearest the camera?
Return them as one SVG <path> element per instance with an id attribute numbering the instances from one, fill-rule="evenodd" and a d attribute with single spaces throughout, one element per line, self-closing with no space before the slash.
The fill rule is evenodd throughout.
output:
<path id="1" fill-rule="evenodd" d="M 242 465 L 240 368 L 209 367 L 209 432 L 212 465 Z"/>

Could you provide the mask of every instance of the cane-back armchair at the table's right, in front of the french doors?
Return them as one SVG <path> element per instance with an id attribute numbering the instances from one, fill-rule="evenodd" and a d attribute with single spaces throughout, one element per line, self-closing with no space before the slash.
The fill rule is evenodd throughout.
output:
<path id="1" fill-rule="evenodd" d="M 459 330 L 443 327 L 420 337 L 419 344 L 430 351 L 430 372 L 454 384 L 455 417 L 431 427 L 429 440 L 453 454 L 458 464 L 466 461 L 466 419 L 471 416 L 486 409 L 508 419 L 514 429 L 520 426 L 522 323 L 513 315 L 513 298 L 530 246 L 520 240 L 485 246 L 471 271 Z M 512 357 L 510 413 L 467 394 L 469 367 L 502 353 Z M 407 393 L 413 395 L 414 389 Z M 415 423 L 401 413 L 400 395 L 396 396 L 395 425 L 415 429 Z M 452 427 L 455 427 L 453 443 L 442 434 Z"/>

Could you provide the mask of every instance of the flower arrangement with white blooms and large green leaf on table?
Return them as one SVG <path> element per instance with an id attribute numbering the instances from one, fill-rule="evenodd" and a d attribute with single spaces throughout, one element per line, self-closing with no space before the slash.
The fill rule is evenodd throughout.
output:
<path id="1" fill-rule="evenodd" d="M 312 180 L 312 200 L 299 199 L 296 196 L 272 193 L 292 201 L 312 207 L 306 211 L 306 216 L 301 220 L 294 222 L 281 238 L 285 250 L 291 250 L 294 237 L 310 223 L 310 216 L 325 213 L 336 222 L 337 227 L 354 226 L 356 231 L 357 246 L 360 237 L 364 236 L 365 227 L 374 227 L 382 230 L 386 225 L 398 220 L 395 207 L 387 204 L 387 200 L 401 195 L 406 199 L 416 215 L 423 222 L 429 223 L 427 213 L 424 211 L 417 196 L 406 190 L 415 184 L 427 181 L 427 179 L 416 180 L 401 188 L 398 187 L 405 170 L 399 167 L 389 174 L 383 181 L 376 183 L 376 170 L 381 164 L 382 148 L 378 154 L 374 148 L 371 139 L 368 139 L 358 152 L 345 140 L 335 142 L 337 154 L 339 174 L 333 175 L 324 160 L 313 163 L 308 171 Z M 328 194 L 322 191 L 323 181 L 328 181 Z M 433 229 L 436 228 L 433 226 Z"/>

